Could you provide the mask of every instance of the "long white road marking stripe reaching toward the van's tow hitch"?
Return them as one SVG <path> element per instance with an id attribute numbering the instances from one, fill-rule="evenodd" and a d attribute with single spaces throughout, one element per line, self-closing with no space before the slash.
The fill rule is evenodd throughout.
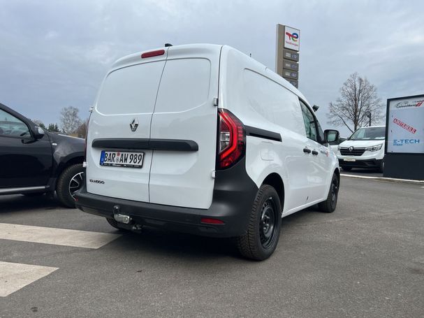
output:
<path id="1" fill-rule="evenodd" d="M 0 223 L 0 239 L 97 249 L 120 235 Z"/>

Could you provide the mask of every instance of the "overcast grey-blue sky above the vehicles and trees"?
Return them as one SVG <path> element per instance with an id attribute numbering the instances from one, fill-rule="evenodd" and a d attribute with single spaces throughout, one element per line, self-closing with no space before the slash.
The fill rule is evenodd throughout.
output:
<path id="1" fill-rule="evenodd" d="M 275 69 L 275 27 L 300 29 L 299 89 L 324 128 L 353 72 L 386 99 L 424 94 L 424 1 L 0 0 L 0 103 L 45 124 L 88 117 L 110 65 L 163 43 L 228 44 Z M 342 135 L 348 135 L 342 129 Z"/>

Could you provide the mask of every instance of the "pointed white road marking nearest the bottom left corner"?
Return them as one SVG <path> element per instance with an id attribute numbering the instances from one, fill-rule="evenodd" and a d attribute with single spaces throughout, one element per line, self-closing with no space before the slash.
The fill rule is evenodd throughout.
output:
<path id="1" fill-rule="evenodd" d="M 6 297 L 57 269 L 57 267 L 0 261 L 0 297 Z"/>

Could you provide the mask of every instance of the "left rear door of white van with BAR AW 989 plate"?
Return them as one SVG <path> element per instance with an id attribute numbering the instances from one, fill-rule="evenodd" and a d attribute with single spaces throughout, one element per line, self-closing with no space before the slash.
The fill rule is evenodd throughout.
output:
<path id="1" fill-rule="evenodd" d="M 149 201 L 152 150 L 146 149 L 146 145 L 166 61 L 166 50 L 155 52 L 162 54 L 124 57 L 103 81 L 87 138 L 90 193 Z"/>

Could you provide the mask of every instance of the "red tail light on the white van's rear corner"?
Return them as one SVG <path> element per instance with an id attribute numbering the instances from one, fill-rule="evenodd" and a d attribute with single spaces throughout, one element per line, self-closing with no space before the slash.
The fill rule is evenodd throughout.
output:
<path id="1" fill-rule="evenodd" d="M 229 110 L 219 109 L 217 168 L 233 166 L 245 152 L 246 135 L 240 120 Z"/>

